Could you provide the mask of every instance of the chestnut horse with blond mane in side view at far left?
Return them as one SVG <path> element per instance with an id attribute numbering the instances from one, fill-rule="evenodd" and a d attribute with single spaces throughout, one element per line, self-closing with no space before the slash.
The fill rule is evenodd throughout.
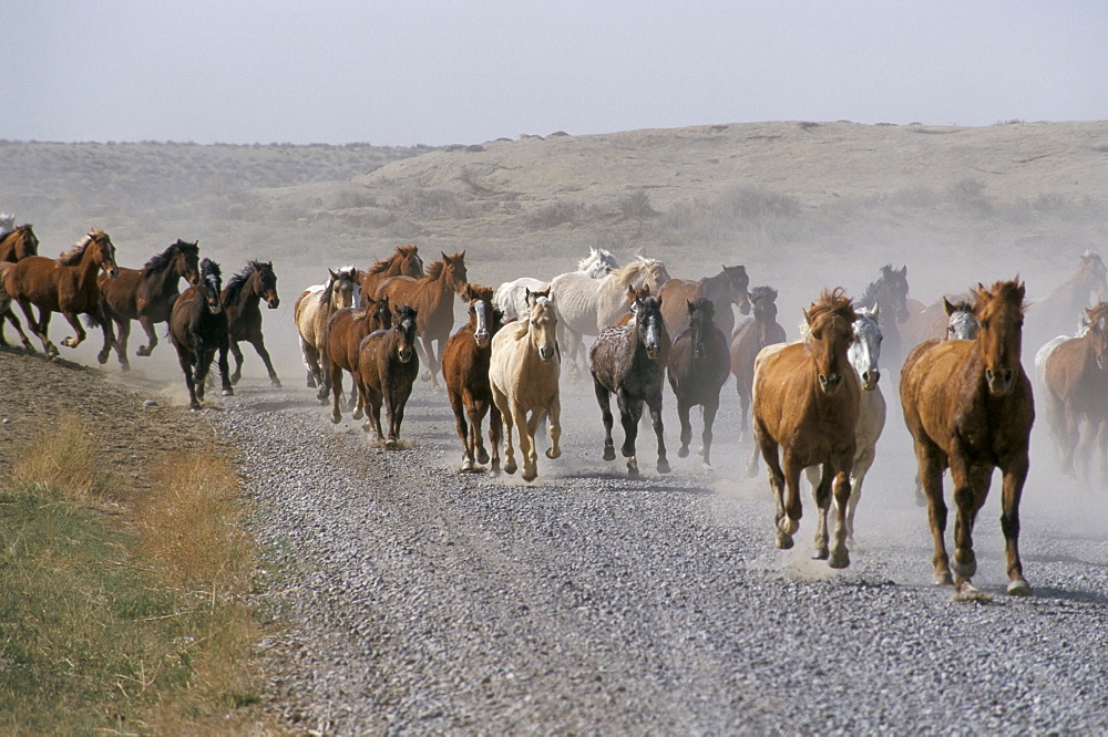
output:
<path id="1" fill-rule="evenodd" d="M 28 325 L 42 341 L 42 350 L 48 356 L 58 355 L 58 349 L 47 334 L 51 312 L 61 312 L 76 331 L 76 336 L 66 338 L 62 345 L 76 347 L 86 338 L 84 328 L 81 326 L 82 314 L 88 314 L 101 325 L 105 343 L 115 341 L 111 323 L 103 319 L 100 308 L 96 273 L 101 269 L 114 277 L 119 267 L 115 266 L 115 246 L 112 239 L 99 229 L 90 230 L 89 235 L 58 259 L 29 256 L 8 269 L 4 288 L 9 297 L 19 302 L 27 315 Z M 38 320 L 31 312 L 32 304 L 39 308 Z"/>

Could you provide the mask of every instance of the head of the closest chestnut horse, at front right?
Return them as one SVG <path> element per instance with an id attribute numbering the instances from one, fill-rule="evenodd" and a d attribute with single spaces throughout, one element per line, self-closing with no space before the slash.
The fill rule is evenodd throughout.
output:
<path id="1" fill-rule="evenodd" d="M 985 366 L 989 394 L 1006 396 L 1019 375 L 1019 350 L 1024 325 L 1024 283 L 998 281 L 992 288 L 978 283 L 974 316 L 981 325 L 977 345 Z"/>

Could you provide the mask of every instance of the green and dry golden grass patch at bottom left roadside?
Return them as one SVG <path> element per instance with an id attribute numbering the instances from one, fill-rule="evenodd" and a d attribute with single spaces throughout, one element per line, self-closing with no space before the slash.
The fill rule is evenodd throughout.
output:
<path id="1" fill-rule="evenodd" d="M 91 438 L 62 418 L 0 481 L 0 731 L 278 733 L 233 464 L 165 458 L 138 495 Z"/>

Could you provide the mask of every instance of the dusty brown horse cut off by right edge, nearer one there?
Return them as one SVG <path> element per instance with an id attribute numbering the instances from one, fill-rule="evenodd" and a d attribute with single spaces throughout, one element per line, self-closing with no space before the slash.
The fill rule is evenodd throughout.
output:
<path id="1" fill-rule="evenodd" d="M 1108 302 L 1086 309 L 1089 329 L 1080 338 L 1061 342 L 1045 361 L 1043 388 L 1046 392 L 1047 417 L 1061 454 L 1061 470 L 1089 481 L 1089 457 L 1092 443 L 1100 437 L 1100 481 L 1108 481 L 1108 346 L 1105 344 L 1105 314 Z M 1080 443 L 1081 421 L 1088 423 L 1088 436 Z M 1074 456 L 1080 446 L 1080 474 L 1075 474 Z"/>

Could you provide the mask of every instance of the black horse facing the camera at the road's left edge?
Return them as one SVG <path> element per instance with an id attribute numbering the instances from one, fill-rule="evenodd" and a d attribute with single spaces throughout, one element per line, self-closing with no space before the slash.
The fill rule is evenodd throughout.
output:
<path id="1" fill-rule="evenodd" d="M 170 342 L 177 350 L 177 361 L 185 373 L 188 387 L 188 407 L 199 409 L 204 402 L 204 382 L 212 366 L 212 359 L 219 352 L 219 377 L 223 395 L 232 396 L 227 366 L 230 339 L 227 333 L 227 312 L 220 292 L 223 274 L 219 264 L 211 259 L 201 261 L 201 278 L 191 295 L 182 294 L 170 313 Z"/>

